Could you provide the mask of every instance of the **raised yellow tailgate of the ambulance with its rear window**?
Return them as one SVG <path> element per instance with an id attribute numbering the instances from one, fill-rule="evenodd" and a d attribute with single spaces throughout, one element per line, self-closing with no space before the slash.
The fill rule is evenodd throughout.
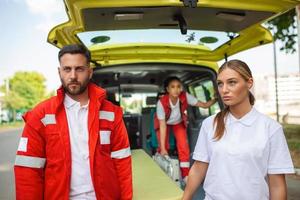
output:
<path id="1" fill-rule="evenodd" d="M 69 21 L 54 27 L 48 42 L 57 47 L 84 43 L 92 50 L 93 60 L 102 66 L 137 57 L 147 59 L 150 44 L 154 46 L 150 50 L 159 48 L 160 56 L 167 58 L 219 61 L 271 42 L 270 32 L 261 24 L 298 3 L 298 0 L 65 0 Z M 137 31 L 137 35 L 138 31 L 161 31 L 152 35 L 159 39 L 149 42 L 145 38 L 135 40 L 138 37 L 132 32 L 126 40 L 117 39 L 122 31 L 129 30 Z M 169 38 L 169 42 L 166 30 L 183 36 L 196 33 L 198 38 L 189 43 Z M 167 45 L 170 43 L 187 48 L 179 46 L 174 51 L 166 51 L 172 48 Z M 208 49 L 197 48 L 200 44 Z M 130 46 L 139 47 L 138 55 Z"/>

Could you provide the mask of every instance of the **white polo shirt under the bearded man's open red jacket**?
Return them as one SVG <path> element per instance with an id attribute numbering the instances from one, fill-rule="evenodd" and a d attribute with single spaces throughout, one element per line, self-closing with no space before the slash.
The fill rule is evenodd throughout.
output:
<path id="1" fill-rule="evenodd" d="M 96 199 L 89 163 L 88 104 L 80 106 L 80 102 L 66 95 L 64 106 L 72 158 L 70 199 Z"/>

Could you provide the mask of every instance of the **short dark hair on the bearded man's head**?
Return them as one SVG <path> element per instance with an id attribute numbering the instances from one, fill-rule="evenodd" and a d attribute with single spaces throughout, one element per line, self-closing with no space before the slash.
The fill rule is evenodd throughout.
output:
<path id="1" fill-rule="evenodd" d="M 91 61 L 91 53 L 90 51 L 81 44 L 70 44 L 64 46 L 58 53 L 58 61 L 60 58 L 65 55 L 66 53 L 70 54 L 82 54 L 86 57 L 87 63 Z"/>

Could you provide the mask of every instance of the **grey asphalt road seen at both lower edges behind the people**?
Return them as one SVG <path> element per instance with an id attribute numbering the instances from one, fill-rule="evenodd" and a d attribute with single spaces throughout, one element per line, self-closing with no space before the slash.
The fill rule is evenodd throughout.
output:
<path id="1" fill-rule="evenodd" d="M 0 132 L 0 200 L 15 199 L 13 163 L 22 129 Z M 300 178 L 287 177 L 288 199 L 300 199 Z"/>

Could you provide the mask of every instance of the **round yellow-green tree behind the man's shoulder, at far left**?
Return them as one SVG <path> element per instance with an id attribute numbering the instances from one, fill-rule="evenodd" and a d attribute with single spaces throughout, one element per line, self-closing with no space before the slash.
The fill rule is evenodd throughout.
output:
<path id="1" fill-rule="evenodd" d="M 29 110 L 46 97 L 46 79 L 38 72 L 19 71 L 9 79 L 9 90 L 5 92 L 4 107 L 14 113 Z M 5 86 L 2 86 L 2 90 Z"/>

